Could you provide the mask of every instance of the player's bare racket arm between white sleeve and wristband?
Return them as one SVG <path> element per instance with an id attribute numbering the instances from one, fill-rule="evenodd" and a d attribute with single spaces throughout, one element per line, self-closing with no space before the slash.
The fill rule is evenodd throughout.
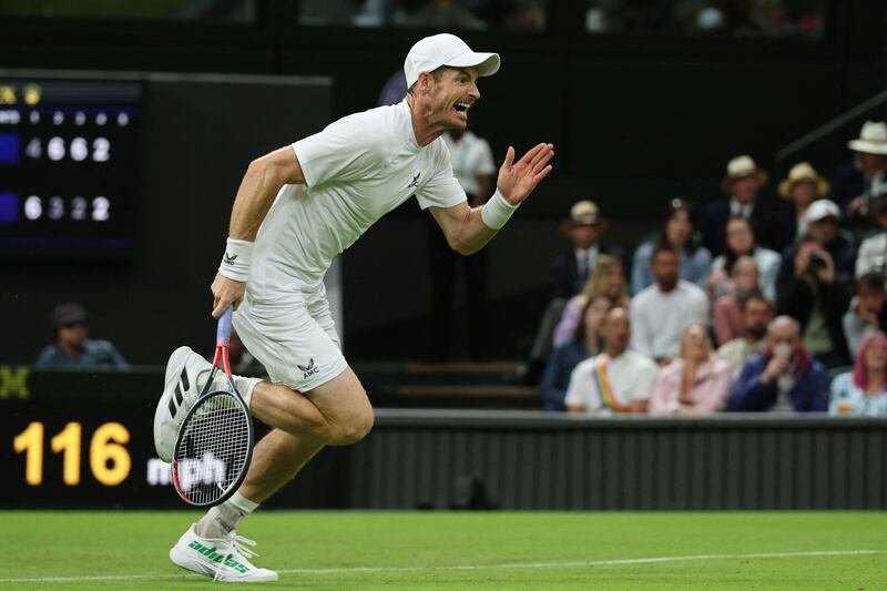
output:
<path id="1" fill-rule="evenodd" d="M 281 188 L 304 183 L 302 165 L 289 145 L 251 162 L 234 198 L 228 235 L 235 240 L 255 242 L 258 226 Z"/>

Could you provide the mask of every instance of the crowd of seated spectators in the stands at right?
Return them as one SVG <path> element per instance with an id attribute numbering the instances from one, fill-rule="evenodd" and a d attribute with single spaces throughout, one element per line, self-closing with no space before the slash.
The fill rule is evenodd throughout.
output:
<path id="1" fill-rule="evenodd" d="M 887 415 L 887 124 L 866 122 L 832 183 L 798 162 L 726 164 L 724 197 L 672 200 L 623 267 L 593 202 L 563 223 L 570 248 L 527 376 L 548 410 L 618 415 Z"/>

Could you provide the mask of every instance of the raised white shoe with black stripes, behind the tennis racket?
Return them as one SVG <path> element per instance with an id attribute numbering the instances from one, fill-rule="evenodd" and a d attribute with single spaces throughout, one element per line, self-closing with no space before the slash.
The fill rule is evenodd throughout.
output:
<path id="1" fill-rule="evenodd" d="M 212 370 L 213 364 L 191 347 L 179 347 L 170 356 L 163 394 L 154 411 L 154 447 L 163 461 L 172 461 L 179 426 L 194 406 Z"/>

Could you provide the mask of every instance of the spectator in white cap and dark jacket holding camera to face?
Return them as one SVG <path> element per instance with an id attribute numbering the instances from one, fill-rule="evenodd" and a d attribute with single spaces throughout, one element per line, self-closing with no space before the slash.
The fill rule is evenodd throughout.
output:
<path id="1" fill-rule="evenodd" d="M 827 367 L 849 363 L 842 317 L 849 303 L 853 246 L 839 233 L 839 211 L 819 200 L 807 211 L 808 231 L 783 253 L 777 309 L 801 323 L 807 349 Z"/>

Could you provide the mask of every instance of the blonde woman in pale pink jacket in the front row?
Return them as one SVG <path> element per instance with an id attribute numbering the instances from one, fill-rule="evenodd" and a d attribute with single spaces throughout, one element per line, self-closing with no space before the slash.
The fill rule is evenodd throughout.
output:
<path id="1" fill-rule="evenodd" d="M 710 415 L 730 398 L 730 365 L 712 353 L 704 325 L 694 324 L 681 337 L 681 351 L 656 377 L 650 396 L 651 415 Z"/>

